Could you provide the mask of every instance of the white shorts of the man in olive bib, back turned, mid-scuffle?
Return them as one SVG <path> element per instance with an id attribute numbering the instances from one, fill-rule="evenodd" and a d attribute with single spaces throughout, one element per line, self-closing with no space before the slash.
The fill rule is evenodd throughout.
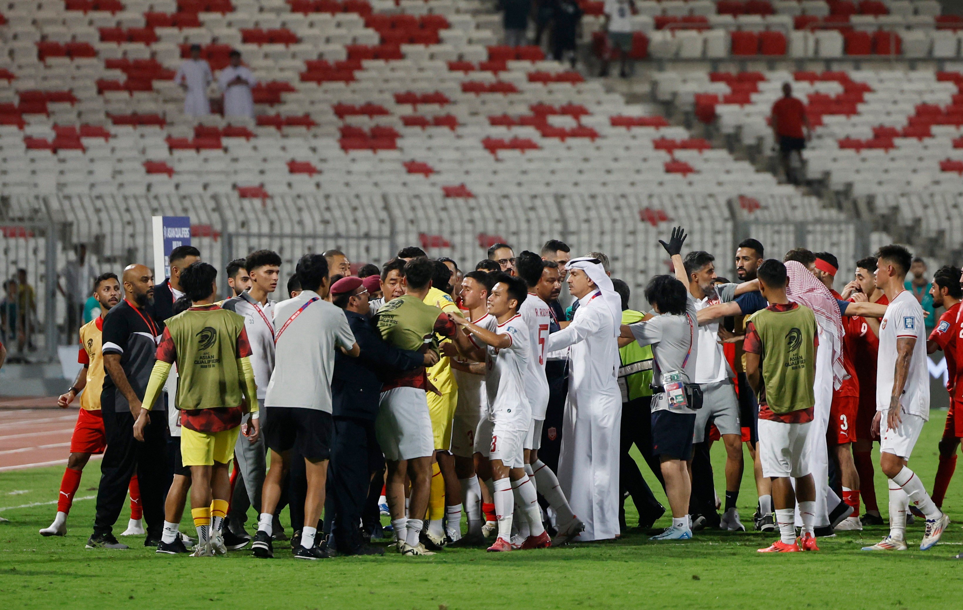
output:
<path id="1" fill-rule="evenodd" d="M 375 419 L 375 436 L 386 460 L 397 462 L 434 453 L 428 398 L 418 388 L 382 392 Z"/>

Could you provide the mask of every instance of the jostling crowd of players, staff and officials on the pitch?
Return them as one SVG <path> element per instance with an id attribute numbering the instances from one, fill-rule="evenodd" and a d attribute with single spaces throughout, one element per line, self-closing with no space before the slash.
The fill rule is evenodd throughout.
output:
<path id="1" fill-rule="evenodd" d="M 89 548 L 127 548 L 112 532 L 128 492 L 122 535 L 145 533 L 158 553 L 250 545 L 273 557 L 288 540 L 285 506 L 302 559 L 383 553 L 369 544 L 386 535 L 382 514 L 408 556 L 606 540 L 626 529 L 627 496 L 643 530 L 665 511 L 630 456 L 636 445 L 672 514 L 652 540 L 686 540 L 745 529 L 744 443 L 753 525 L 780 534 L 760 551 L 818 550 L 820 537 L 883 523 L 878 442 L 890 532 L 864 550 L 906 549 L 914 515 L 920 548 L 936 545 L 963 437 L 960 269 L 933 277 L 933 305 L 946 311 L 927 336 L 901 246 L 858 261 L 840 293 L 830 253 L 796 248 L 779 261 L 742 241 L 732 283 L 713 255 L 683 257 L 685 241 L 681 228 L 661 241 L 675 273 L 652 278 L 648 313 L 630 309 L 603 253 L 573 259 L 556 240 L 517 257 L 496 243 L 470 271 L 417 247 L 356 274 L 338 250 L 307 254 L 279 300 L 282 261 L 269 250 L 227 266 L 226 300 L 193 246 L 169 253 L 156 286 L 143 265 L 104 273 L 93 286 L 101 316 L 79 333 L 84 368 L 60 397 L 67 407 L 80 395 L 81 409 L 57 517 L 40 533 L 65 535 L 81 472 L 103 453 Z M 950 415 L 927 495 L 907 461 L 928 419 L 935 350 Z M 196 541 L 179 531 L 188 495 Z"/>

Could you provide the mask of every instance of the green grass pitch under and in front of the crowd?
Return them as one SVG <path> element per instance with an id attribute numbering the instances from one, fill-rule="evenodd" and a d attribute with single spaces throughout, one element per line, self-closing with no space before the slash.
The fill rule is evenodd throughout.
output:
<path id="1" fill-rule="evenodd" d="M 927 486 L 936 470 L 936 443 L 945 413 L 934 412 L 911 467 Z M 714 447 L 716 487 L 722 447 Z M 878 469 L 877 469 L 878 470 Z M 643 467 L 643 472 L 647 470 Z M 0 473 L 0 508 L 55 500 L 60 468 Z M 92 496 L 99 470 L 91 463 L 78 497 Z M 662 490 L 647 477 L 657 496 Z M 960 517 L 963 472 L 950 486 L 945 509 Z M 740 498 L 745 521 L 754 510 L 755 485 L 746 470 Z M 886 511 L 886 482 L 876 492 Z M 666 504 L 667 505 L 667 504 Z M 488 554 L 446 550 L 434 557 L 336 558 L 298 562 L 283 549 L 273 561 L 248 551 L 194 559 L 159 556 L 141 538 L 130 550 L 86 550 L 94 502 L 77 501 L 65 538 L 37 533 L 56 507 L 7 508 L 0 516 L 0 607 L 3 608 L 959 608 L 963 530 L 951 524 L 947 543 L 927 552 L 922 525 L 911 525 L 911 550 L 871 554 L 885 527 L 820 540 L 820 553 L 760 555 L 775 536 L 705 531 L 692 541 L 651 543 L 641 533 L 618 542 Z M 630 525 L 636 516 L 629 507 Z M 121 522 L 127 518 L 126 510 Z M 185 521 L 185 529 L 193 529 Z M 667 524 L 664 518 L 660 524 Z M 121 525 L 122 530 L 122 525 Z"/>

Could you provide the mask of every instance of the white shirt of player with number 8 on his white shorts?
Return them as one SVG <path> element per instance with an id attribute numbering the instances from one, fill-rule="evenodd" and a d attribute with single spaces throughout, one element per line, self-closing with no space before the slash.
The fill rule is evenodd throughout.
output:
<path id="1" fill-rule="evenodd" d="M 496 424 L 528 430 L 532 405 L 525 395 L 525 372 L 532 353 L 529 329 L 521 314 L 498 325 L 495 332 L 508 335 L 511 344 L 501 349 L 485 346 L 485 391 L 488 417 Z"/>

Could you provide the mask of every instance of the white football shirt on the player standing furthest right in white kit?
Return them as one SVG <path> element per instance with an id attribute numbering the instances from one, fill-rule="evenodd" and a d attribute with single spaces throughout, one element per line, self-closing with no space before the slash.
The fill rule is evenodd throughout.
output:
<path id="1" fill-rule="evenodd" d="M 929 419 L 929 368 L 926 366 L 926 326 L 923 307 L 912 292 L 899 292 L 879 324 L 879 352 L 876 357 L 876 411 L 890 407 L 897 364 L 897 340 L 916 339 L 899 398 L 903 411 Z"/>

